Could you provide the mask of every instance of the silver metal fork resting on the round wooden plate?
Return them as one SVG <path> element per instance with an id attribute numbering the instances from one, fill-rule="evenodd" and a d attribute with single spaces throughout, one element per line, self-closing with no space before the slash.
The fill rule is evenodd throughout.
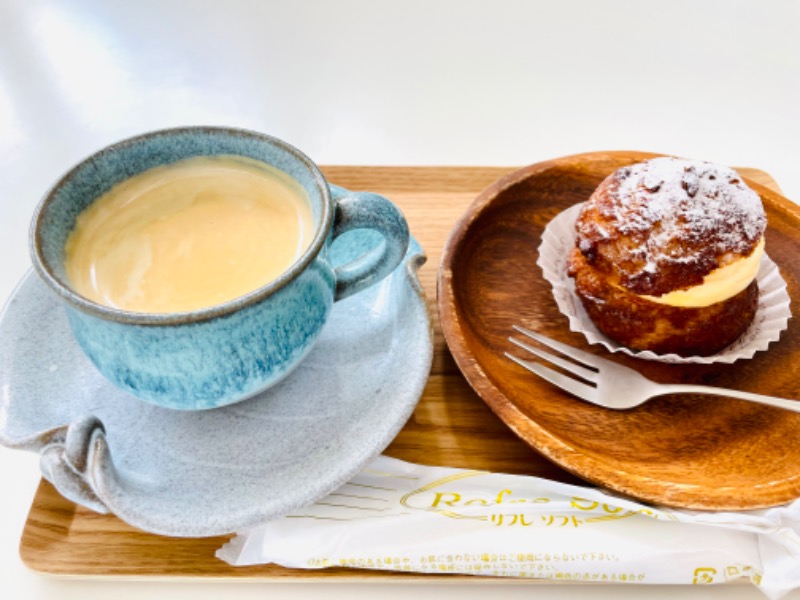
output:
<path id="1" fill-rule="evenodd" d="M 800 401 L 796 400 L 773 398 L 771 396 L 762 396 L 760 394 L 751 394 L 749 392 L 740 392 L 738 390 L 728 390 L 705 385 L 656 383 L 650 381 L 644 375 L 637 373 L 633 369 L 618 365 L 610 360 L 551 340 L 539 333 L 517 325 L 514 325 L 514 329 L 568 356 L 572 360 L 566 360 L 565 358 L 556 356 L 546 350 L 542 350 L 541 348 L 532 346 L 513 337 L 508 338 L 511 342 L 535 354 L 539 358 L 549 361 L 565 371 L 576 375 L 584 381 L 564 375 L 563 373 L 537 362 L 524 360 L 506 352 L 505 355 L 508 358 L 529 371 L 536 373 L 536 375 L 542 379 L 546 379 L 550 383 L 574 394 L 578 398 L 582 398 L 598 406 L 624 410 L 639 406 L 647 402 L 650 398 L 663 396 L 664 394 L 712 394 L 715 396 L 727 396 L 729 398 L 749 400 L 750 402 L 758 402 L 768 406 L 800 412 Z"/>

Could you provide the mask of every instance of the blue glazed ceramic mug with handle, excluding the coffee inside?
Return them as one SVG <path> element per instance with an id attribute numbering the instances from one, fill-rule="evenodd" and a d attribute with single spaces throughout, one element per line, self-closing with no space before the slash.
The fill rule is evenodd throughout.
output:
<path id="1" fill-rule="evenodd" d="M 314 234 L 277 279 L 239 298 L 198 310 L 138 313 L 78 294 L 64 246 L 78 215 L 116 184 L 195 156 L 238 155 L 287 173 L 307 192 Z M 334 266 L 333 240 L 353 229 L 383 242 Z M 289 374 L 309 352 L 333 303 L 380 281 L 402 260 L 408 226 L 389 200 L 331 186 L 304 154 L 256 132 L 188 127 L 146 133 L 79 163 L 45 195 L 31 225 L 31 257 L 62 299 L 72 332 L 112 383 L 159 406 L 199 410 L 251 397 Z"/>

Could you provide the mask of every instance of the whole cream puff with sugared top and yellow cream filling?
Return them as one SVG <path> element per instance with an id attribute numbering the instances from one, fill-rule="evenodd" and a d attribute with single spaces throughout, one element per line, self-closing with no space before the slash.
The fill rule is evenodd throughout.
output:
<path id="1" fill-rule="evenodd" d="M 672 157 L 623 167 L 575 227 L 568 274 L 589 317 L 616 342 L 708 356 L 752 322 L 766 216 L 734 170 Z"/>

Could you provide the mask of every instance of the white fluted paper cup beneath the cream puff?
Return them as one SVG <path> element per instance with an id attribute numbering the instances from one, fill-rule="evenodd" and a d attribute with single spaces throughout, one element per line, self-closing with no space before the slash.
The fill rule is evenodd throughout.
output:
<path id="1" fill-rule="evenodd" d="M 583 333 L 590 344 L 602 344 L 611 352 L 623 352 L 637 358 L 667 363 L 732 363 L 739 359 L 752 358 L 756 352 L 766 350 L 772 342 L 780 338 L 781 331 L 786 329 L 792 316 L 789 307 L 791 299 L 778 266 L 764 254 L 757 275 L 759 299 L 755 319 L 737 341 L 721 352 L 711 356 L 682 357 L 677 354 L 631 350 L 614 342 L 589 318 L 575 294 L 574 281 L 567 275 L 567 257 L 575 247 L 575 220 L 580 209 L 580 204 L 571 206 L 548 223 L 542 233 L 537 264 L 542 268 L 545 279 L 553 286 L 556 304 L 569 319 L 569 328 Z"/>

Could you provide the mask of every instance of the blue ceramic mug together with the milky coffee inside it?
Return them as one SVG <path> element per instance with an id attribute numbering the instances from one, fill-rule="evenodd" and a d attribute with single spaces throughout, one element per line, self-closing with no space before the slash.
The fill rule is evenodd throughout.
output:
<path id="1" fill-rule="evenodd" d="M 333 265 L 331 244 L 354 229 L 381 242 Z M 329 185 L 274 137 L 215 127 L 155 131 L 93 154 L 45 195 L 30 235 L 34 268 L 97 369 L 184 410 L 283 379 L 333 303 L 391 273 L 408 240 L 386 198 Z"/>

